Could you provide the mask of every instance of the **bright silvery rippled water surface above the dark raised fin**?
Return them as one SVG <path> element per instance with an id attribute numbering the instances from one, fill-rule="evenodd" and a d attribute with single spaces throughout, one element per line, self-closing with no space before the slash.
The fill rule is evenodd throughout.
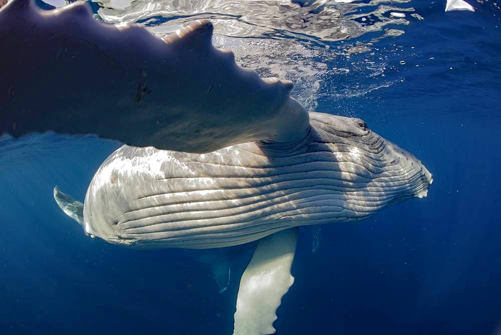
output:
<path id="1" fill-rule="evenodd" d="M 423 19 L 406 0 L 111 1 L 105 5 L 97 10 L 103 21 L 137 22 L 160 36 L 190 21 L 210 19 L 214 45 L 233 50 L 240 65 L 254 68 L 263 76 L 293 80 L 296 96 L 311 108 L 317 106 L 320 95 L 331 94 L 330 85 L 328 92 L 322 88 L 330 84 L 326 81 L 333 74 L 350 71 L 347 66 L 339 66 L 339 58 L 346 62 L 351 55 L 367 54 L 369 59 L 364 58 L 364 64 L 358 66 L 363 66 L 369 76 L 383 74 L 384 62 L 374 59 L 378 51 L 374 43 L 397 37 L 404 33 L 405 26 Z"/>

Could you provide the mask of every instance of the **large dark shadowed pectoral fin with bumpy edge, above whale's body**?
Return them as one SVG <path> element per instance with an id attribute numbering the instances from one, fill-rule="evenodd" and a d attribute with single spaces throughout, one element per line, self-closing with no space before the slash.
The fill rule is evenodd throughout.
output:
<path id="1" fill-rule="evenodd" d="M 199 20 L 160 39 L 140 25 L 98 22 L 85 1 L 42 11 L 13 0 L 0 11 L 9 50 L 0 135 L 52 130 L 198 153 L 303 138 L 309 114 L 289 96 L 293 84 L 237 66 L 214 48 L 212 31 Z"/>

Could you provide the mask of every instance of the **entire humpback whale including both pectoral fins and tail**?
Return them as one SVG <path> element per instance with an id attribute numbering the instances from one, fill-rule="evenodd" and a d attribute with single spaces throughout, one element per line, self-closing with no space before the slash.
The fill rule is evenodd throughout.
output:
<path id="1" fill-rule="evenodd" d="M 84 203 L 54 189 L 91 237 L 138 249 L 259 240 L 240 279 L 234 334 L 270 334 L 294 281 L 299 226 L 423 198 L 432 176 L 363 120 L 307 112 L 289 96 L 292 83 L 238 67 L 211 36 L 208 21 L 160 39 L 99 23 L 85 3 L 44 12 L 7 3 L 0 132 L 126 143 Z"/>

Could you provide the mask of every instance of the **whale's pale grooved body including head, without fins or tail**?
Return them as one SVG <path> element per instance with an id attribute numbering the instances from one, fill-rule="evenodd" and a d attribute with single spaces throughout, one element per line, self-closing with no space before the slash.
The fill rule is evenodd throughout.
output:
<path id="1" fill-rule="evenodd" d="M 94 176 L 84 221 L 92 234 L 131 247 L 213 248 L 426 196 L 431 175 L 420 161 L 363 121 L 310 118 L 296 142 L 205 154 L 124 145 Z"/>

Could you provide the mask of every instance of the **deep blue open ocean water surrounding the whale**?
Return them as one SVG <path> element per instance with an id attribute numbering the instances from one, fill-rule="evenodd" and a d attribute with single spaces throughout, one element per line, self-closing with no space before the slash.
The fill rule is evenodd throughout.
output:
<path id="1" fill-rule="evenodd" d="M 314 253 L 313 228 L 303 228 L 278 334 L 501 332 L 501 11 L 471 4 L 475 12 L 445 13 L 443 2 L 412 1 L 424 20 L 395 26 L 405 34 L 375 42 L 374 55 L 322 60 L 342 68 L 372 57 L 385 68 L 333 74 L 317 111 L 363 118 L 418 156 L 434 183 L 425 199 L 322 226 Z M 248 250 L 218 293 L 189 252 L 90 239 L 54 202 L 55 185 L 83 200 L 119 145 L 0 138 L 0 333 L 231 333 Z"/>

